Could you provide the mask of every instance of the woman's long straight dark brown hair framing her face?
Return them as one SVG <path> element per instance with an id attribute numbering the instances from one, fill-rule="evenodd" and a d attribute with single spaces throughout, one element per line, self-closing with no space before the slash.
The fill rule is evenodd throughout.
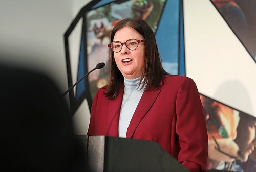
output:
<path id="1" fill-rule="evenodd" d="M 167 75 L 168 73 L 162 67 L 155 34 L 144 20 L 139 18 L 126 18 L 119 21 L 113 28 L 111 42 L 113 41 L 116 32 L 124 27 L 135 29 L 145 40 L 145 58 L 139 83 L 140 85 L 142 84 L 141 88 L 144 86 L 145 90 L 159 88 L 164 75 Z M 117 68 L 114 53 L 111 49 L 110 68 L 110 78 L 109 83 L 106 86 L 105 95 L 108 99 L 112 100 L 117 96 L 120 86 L 123 83 L 123 75 Z"/>

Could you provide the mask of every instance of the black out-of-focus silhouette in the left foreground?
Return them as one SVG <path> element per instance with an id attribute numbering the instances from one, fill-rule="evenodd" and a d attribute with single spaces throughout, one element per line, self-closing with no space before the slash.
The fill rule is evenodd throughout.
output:
<path id="1" fill-rule="evenodd" d="M 85 171 L 56 85 L 34 71 L 0 65 L 0 171 Z"/>

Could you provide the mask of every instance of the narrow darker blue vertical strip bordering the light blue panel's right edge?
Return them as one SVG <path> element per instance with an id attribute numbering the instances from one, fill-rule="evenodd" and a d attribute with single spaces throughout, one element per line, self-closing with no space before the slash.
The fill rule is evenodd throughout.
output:
<path id="1" fill-rule="evenodd" d="M 185 75 L 183 0 L 180 0 L 180 60 L 179 75 Z"/>

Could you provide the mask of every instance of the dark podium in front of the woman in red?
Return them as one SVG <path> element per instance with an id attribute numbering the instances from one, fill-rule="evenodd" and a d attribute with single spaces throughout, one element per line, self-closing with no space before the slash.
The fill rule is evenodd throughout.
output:
<path id="1" fill-rule="evenodd" d="M 156 142 L 79 135 L 90 172 L 189 172 Z"/>

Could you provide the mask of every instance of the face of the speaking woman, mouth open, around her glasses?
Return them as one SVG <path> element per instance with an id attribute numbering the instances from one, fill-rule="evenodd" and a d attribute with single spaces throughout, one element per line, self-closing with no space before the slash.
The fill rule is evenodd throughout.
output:
<path id="1" fill-rule="evenodd" d="M 135 29 L 124 27 L 116 32 L 113 41 L 126 42 L 129 39 L 144 40 Z M 114 58 L 118 69 L 126 79 L 138 78 L 144 65 L 145 43 L 139 43 L 136 50 L 129 50 L 124 44 L 120 52 L 114 52 Z"/>

